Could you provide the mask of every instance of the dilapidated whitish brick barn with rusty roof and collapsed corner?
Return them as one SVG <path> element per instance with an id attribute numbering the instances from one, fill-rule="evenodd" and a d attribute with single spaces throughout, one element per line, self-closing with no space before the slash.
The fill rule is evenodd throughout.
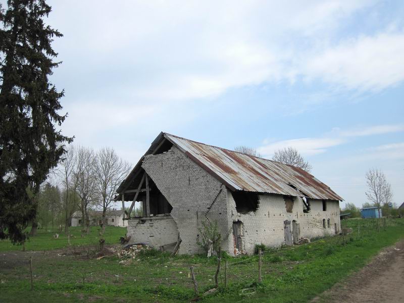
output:
<path id="1" fill-rule="evenodd" d="M 217 223 L 230 255 L 340 231 L 342 198 L 304 170 L 163 132 L 117 199 L 143 206 L 126 218 L 130 242 L 169 249 L 181 239 L 180 254 L 201 252 L 204 222 Z"/>

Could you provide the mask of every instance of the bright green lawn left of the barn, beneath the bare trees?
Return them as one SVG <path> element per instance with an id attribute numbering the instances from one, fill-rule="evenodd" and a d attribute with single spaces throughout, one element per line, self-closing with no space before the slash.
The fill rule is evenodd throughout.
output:
<path id="1" fill-rule="evenodd" d="M 38 229 L 37 234 L 25 242 L 25 250 L 49 250 L 67 247 L 68 236 L 64 232 L 56 232 L 59 233 L 58 239 L 54 238 L 55 232 L 52 232 L 51 228 Z M 96 226 L 91 226 L 90 233 L 84 237 L 81 237 L 81 227 L 70 227 L 69 233 L 71 235 L 70 244 L 73 246 L 98 244 L 100 238 L 99 227 Z M 103 238 L 106 240 L 106 244 L 116 244 L 119 243 L 119 238 L 125 234 L 126 227 L 108 226 Z M 0 251 L 22 249 L 22 245 L 13 245 L 9 240 L 0 240 Z"/>

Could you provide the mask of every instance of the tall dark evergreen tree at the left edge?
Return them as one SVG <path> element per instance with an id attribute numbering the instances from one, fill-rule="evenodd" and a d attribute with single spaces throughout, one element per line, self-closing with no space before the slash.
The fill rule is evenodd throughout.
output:
<path id="1" fill-rule="evenodd" d="M 62 34 L 44 24 L 50 12 L 44 0 L 9 0 L 0 11 L 0 238 L 14 243 L 25 240 L 40 184 L 73 140 L 56 129 L 64 93 L 48 76 Z"/>

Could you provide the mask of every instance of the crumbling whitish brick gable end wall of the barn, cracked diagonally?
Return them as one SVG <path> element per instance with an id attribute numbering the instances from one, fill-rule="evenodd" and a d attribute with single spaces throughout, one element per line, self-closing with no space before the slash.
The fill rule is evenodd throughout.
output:
<path id="1" fill-rule="evenodd" d="M 179 254 L 201 252 L 199 229 L 208 219 L 218 222 L 222 235 L 229 232 L 231 221 L 222 220 L 227 217 L 225 186 L 178 148 L 146 156 L 142 167 L 173 207 L 171 216 L 182 240 Z"/>

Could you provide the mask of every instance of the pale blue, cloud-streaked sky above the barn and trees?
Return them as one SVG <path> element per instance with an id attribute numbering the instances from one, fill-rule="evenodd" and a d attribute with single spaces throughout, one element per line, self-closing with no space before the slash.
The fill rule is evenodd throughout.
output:
<path id="1" fill-rule="evenodd" d="M 269 159 L 290 145 L 347 202 L 369 168 L 404 201 L 402 1 L 48 3 L 76 144 L 133 164 L 160 131 Z"/>

